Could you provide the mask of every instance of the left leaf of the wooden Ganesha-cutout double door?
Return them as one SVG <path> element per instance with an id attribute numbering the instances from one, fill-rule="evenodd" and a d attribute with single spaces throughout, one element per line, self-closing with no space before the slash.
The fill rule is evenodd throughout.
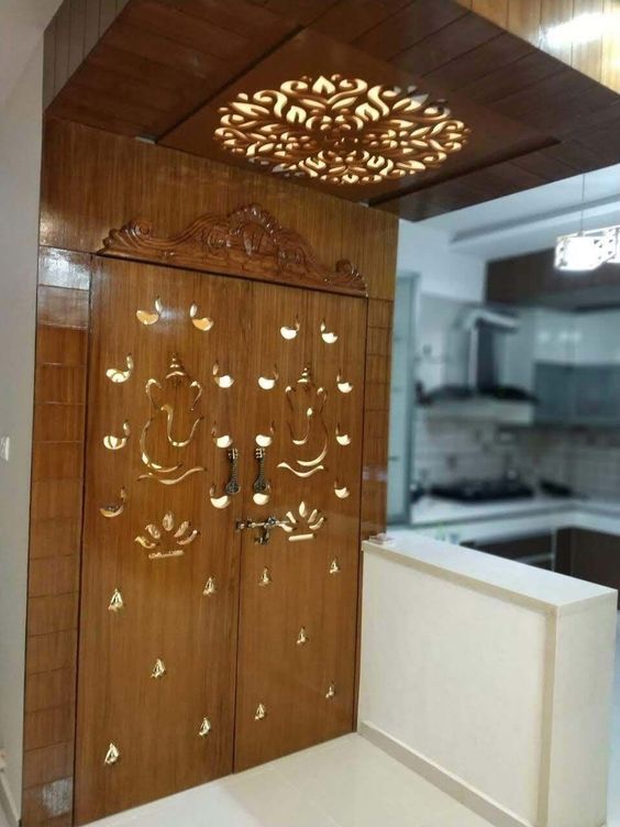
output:
<path id="1" fill-rule="evenodd" d="M 240 538 L 222 506 L 247 289 L 126 262 L 95 277 L 78 823 L 232 770 Z"/>

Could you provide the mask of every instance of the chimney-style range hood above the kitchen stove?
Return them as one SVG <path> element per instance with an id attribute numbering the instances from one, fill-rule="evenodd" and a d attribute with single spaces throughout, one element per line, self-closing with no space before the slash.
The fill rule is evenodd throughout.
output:
<path id="1" fill-rule="evenodd" d="M 520 319 L 488 305 L 467 307 L 456 320 L 452 333 L 466 342 L 463 383 L 443 385 L 419 401 L 428 415 L 494 421 L 505 424 L 531 424 L 534 397 L 523 388 L 500 382 L 500 337 L 517 333 Z"/>

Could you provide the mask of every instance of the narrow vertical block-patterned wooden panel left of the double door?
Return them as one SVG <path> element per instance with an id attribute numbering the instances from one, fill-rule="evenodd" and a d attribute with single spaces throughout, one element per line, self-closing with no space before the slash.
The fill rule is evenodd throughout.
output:
<path id="1" fill-rule="evenodd" d="M 41 251 L 23 827 L 60 825 L 73 808 L 89 268 L 89 255 Z"/>

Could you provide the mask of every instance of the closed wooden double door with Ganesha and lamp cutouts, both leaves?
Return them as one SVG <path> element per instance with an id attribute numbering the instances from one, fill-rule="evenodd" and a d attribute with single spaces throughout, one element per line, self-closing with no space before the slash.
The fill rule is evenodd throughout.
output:
<path id="1" fill-rule="evenodd" d="M 78 824 L 351 730 L 365 330 L 363 298 L 99 260 Z"/>

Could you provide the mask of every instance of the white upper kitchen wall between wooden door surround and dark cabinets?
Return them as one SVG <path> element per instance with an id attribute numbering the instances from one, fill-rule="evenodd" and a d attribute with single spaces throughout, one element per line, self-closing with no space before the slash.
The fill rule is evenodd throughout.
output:
<path id="1" fill-rule="evenodd" d="M 410 221 L 400 221 L 398 233 L 399 275 L 420 274 L 420 293 L 462 301 L 481 301 L 486 263 L 450 249 L 450 236 Z"/>

